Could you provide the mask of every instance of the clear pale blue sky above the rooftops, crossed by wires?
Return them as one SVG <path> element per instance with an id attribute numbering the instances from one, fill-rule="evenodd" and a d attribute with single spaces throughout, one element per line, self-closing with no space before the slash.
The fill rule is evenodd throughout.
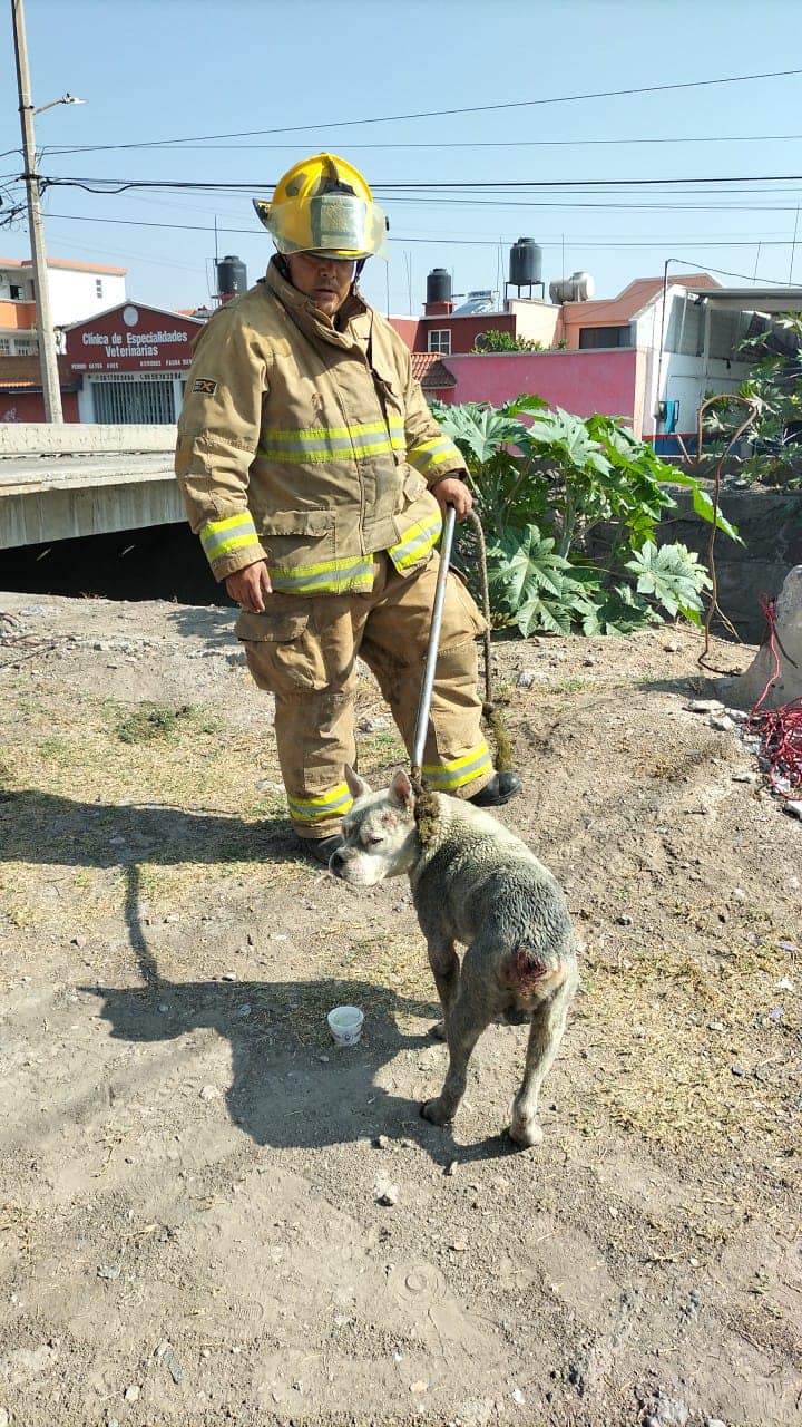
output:
<path id="1" fill-rule="evenodd" d="M 802 283 L 799 0 L 24 0 L 24 19 L 34 107 L 86 100 L 34 118 L 61 181 L 47 254 L 126 267 L 141 304 L 207 303 L 215 255 L 254 283 L 271 240 L 251 198 L 321 150 L 388 213 L 390 263 L 362 278 L 385 313 L 420 313 L 434 267 L 504 295 L 519 237 L 547 294 L 584 270 L 612 297 L 666 261 Z M 17 106 L 0 0 L 0 257 L 26 258 Z"/>

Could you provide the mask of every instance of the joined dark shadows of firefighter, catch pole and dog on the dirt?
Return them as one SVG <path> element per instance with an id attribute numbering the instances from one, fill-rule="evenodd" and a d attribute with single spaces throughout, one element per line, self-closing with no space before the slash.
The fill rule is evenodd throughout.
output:
<path id="1" fill-rule="evenodd" d="M 438 1164 L 514 1153 L 502 1136 L 472 1146 L 454 1143 L 451 1132 L 428 1124 L 417 1100 L 377 1083 L 382 1066 L 404 1049 L 432 1046 L 428 1035 L 398 1030 L 394 1016 L 431 1017 L 437 997 L 415 1000 L 382 987 L 381 1010 L 358 1046 L 320 1053 L 303 1043 L 298 1026 L 314 1002 L 334 1006 L 348 999 L 377 1005 L 377 986 L 348 980 L 205 980 L 170 982 L 157 966 L 141 916 L 141 868 L 148 863 L 297 862 L 303 855 L 283 819 L 248 823 L 210 812 L 147 805 L 84 803 L 36 791 L 6 795 L 0 803 L 0 839 L 6 859 L 73 866 L 120 868 L 126 878 L 124 920 L 141 986 L 84 986 L 97 996 L 101 1016 L 117 1040 L 168 1042 L 213 1029 L 231 1046 L 230 1119 L 257 1144 L 313 1147 L 377 1134 L 408 1137 Z M 324 876 L 323 869 L 317 869 Z M 248 1007 L 247 1010 L 244 1007 Z M 511 1032 L 512 1033 L 512 1032 Z M 437 1095 L 447 1052 L 421 1067 L 421 1093 Z"/>

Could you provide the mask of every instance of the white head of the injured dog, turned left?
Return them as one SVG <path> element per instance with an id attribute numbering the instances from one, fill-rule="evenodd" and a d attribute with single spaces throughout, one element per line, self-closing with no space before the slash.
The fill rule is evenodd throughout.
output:
<path id="1" fill-rule="evenodd" d="M 364 778 L 350 768 L 345 768 L 345 781 L 355 802 L 342 819 L 345 842 L 333 855 L 328 870 L 362 888 L 408 872 L 420 850 L 415 795 L 408 775 L 400 769 L 381 793 L 371 792 Z"/>

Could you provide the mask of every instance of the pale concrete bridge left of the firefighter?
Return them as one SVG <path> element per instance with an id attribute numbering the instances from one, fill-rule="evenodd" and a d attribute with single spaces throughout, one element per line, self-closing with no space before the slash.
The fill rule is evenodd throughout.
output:
<path id="1" fill-rule="evenodd" d="M 186 521 L 176 427 L 0 424 L 0 549 Z"/>

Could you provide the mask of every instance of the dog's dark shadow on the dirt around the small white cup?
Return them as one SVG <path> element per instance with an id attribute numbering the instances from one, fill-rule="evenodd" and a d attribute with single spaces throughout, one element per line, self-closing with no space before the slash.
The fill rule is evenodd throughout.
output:
<path id="1" fill-rule="evenodd" d="M 372 1017 L 357 1046 L 313 1050 L 300 1043 L 294 1019 L 304 1000 L 337 1005 L 337 980 L 166 982 L 147 976 L 144 987 L 83 986 L 101 999 L 111 1036 L 127 1042 L 167 1042 L 211 1029 L 231 1046 L 231 1085 L 225 1102 L 231 1123 L 257 1144 L 273 1149 L 320 1149 L 361 1139 L 407 1137 L 442 1167 L 515 1153 L 504 1136 L 468 1146 L 454 1143 L 450 1129 L 421 1119 L 420 1102 L 397 1096 L 377 1083 L 381 1069 L 402 1050 L 435 1045 L 431 1035 L 405 1035 L 392 1015 L 430 1016 L 438 1007 L 392 992 L 387 1015 Z M 375 986 L 350 982 L 357 1003 L 375 999 Z M 244 1007 L 247 1015 L 243 1015 Z M 303 1017 L 301 1017 L 303 1019 Z M 445 1073 L 445 1046 L 427 1066 L 427 1090 L 437 1093 Z M 431 1079 L 430 1079 L 431 1077 Z"/>

